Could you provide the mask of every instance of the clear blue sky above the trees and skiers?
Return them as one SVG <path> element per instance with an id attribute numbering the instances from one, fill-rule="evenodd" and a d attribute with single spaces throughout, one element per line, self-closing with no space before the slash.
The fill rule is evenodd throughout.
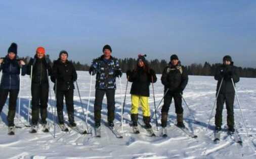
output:
<path id="1" fill-rule="evenodd" d="M 16 42 L 20 56 L 44 46 L 51 59 L 91 63 L 109 44 L 117 58 L 146 53 L 183 64 L 256 67 L 256 1 L 1 1 L 0 54 Z"/>

